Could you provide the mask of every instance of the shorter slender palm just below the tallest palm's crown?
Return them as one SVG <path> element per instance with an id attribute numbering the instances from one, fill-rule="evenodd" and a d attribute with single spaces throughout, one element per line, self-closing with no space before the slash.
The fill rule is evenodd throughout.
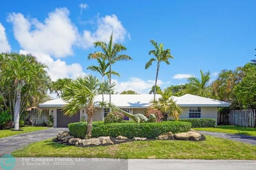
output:
<path id="1" fill-rule="evenodd" d="M 95 71 L 100 73 L 101 77 L 102 77 L 102 82 L 104 82 L 104 77 L 105 75 L 108 76 L 109 79 L 109 73 L 110 71 L 107 71 L 110 63 L 106 63 L 105 59 L 100 59 L 100 58 L 96 58 L 97 62 L 98 62 L 98 66 L 88 66 L 87 69 L 91 70 L 91 71 Z M 111 71 L 111 73 L 113 75 L 117 75 L 120 77 L 119 73 L 117 73 L 116 71 Z M 102 102 L 104 101 L 104 93 L 102 93 Z M 102 108 L 102 121 L 104 120 L 104 110 Z"/>

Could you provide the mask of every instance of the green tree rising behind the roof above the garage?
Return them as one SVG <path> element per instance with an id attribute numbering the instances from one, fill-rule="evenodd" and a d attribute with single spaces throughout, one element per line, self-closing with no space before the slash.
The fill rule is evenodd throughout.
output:
<path id="1" fill-rule="evenodd" d="M 57 99 L 59 96 L 59 93 L 63 93 L 63 88 L 65 85 L 69 84 L 72 81 L 72 79 L 64 78 L 64 79 L 58 79 L 56 81 L 50 82 L 50 93 L 56 93 Z"/>

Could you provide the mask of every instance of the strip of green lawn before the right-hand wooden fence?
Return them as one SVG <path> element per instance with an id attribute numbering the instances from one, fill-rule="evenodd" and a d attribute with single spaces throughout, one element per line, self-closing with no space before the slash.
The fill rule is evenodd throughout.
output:
<path id="1" fill-rule="evenodd" d="M 241 126 L 217 126 L 216 128 L 193 128 L 194 130 L 204 130 L 210 132 L 234 133 L 241 135 L 256 136 L 256 128 Z"/>

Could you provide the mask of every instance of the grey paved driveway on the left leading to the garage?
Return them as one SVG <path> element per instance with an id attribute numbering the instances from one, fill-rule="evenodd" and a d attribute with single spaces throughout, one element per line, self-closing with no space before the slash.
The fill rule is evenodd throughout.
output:
<path id="1" fill-rule="evenodd" d="M 56 137 L 60 132 L 68 130 L 67 128 L 50 128 L 47 130 L 38 130 L 35 132 L 22 133 L 9 137 L 0 138 L 0 156 L 9 154 L 14 150 L 26 146 L 30 143 L 42 141 Z"/>

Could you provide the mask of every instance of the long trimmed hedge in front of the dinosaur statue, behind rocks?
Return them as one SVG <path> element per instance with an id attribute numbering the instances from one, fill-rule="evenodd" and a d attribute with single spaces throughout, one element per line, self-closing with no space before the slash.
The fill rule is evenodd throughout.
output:
<path id="1" fill-rule="evenodd" d="M 85 138 L 87 123 L 76 122 L 68 124 L 69 132 L 75 138 Z M 133 137 L 147 137 L 154 139 L 163 133 L 173 132 L 188 132 L 191 129 L 189 122 L 155 122 L 155 123 L 93 123 L 92 137 L 119 135 Z"/>

